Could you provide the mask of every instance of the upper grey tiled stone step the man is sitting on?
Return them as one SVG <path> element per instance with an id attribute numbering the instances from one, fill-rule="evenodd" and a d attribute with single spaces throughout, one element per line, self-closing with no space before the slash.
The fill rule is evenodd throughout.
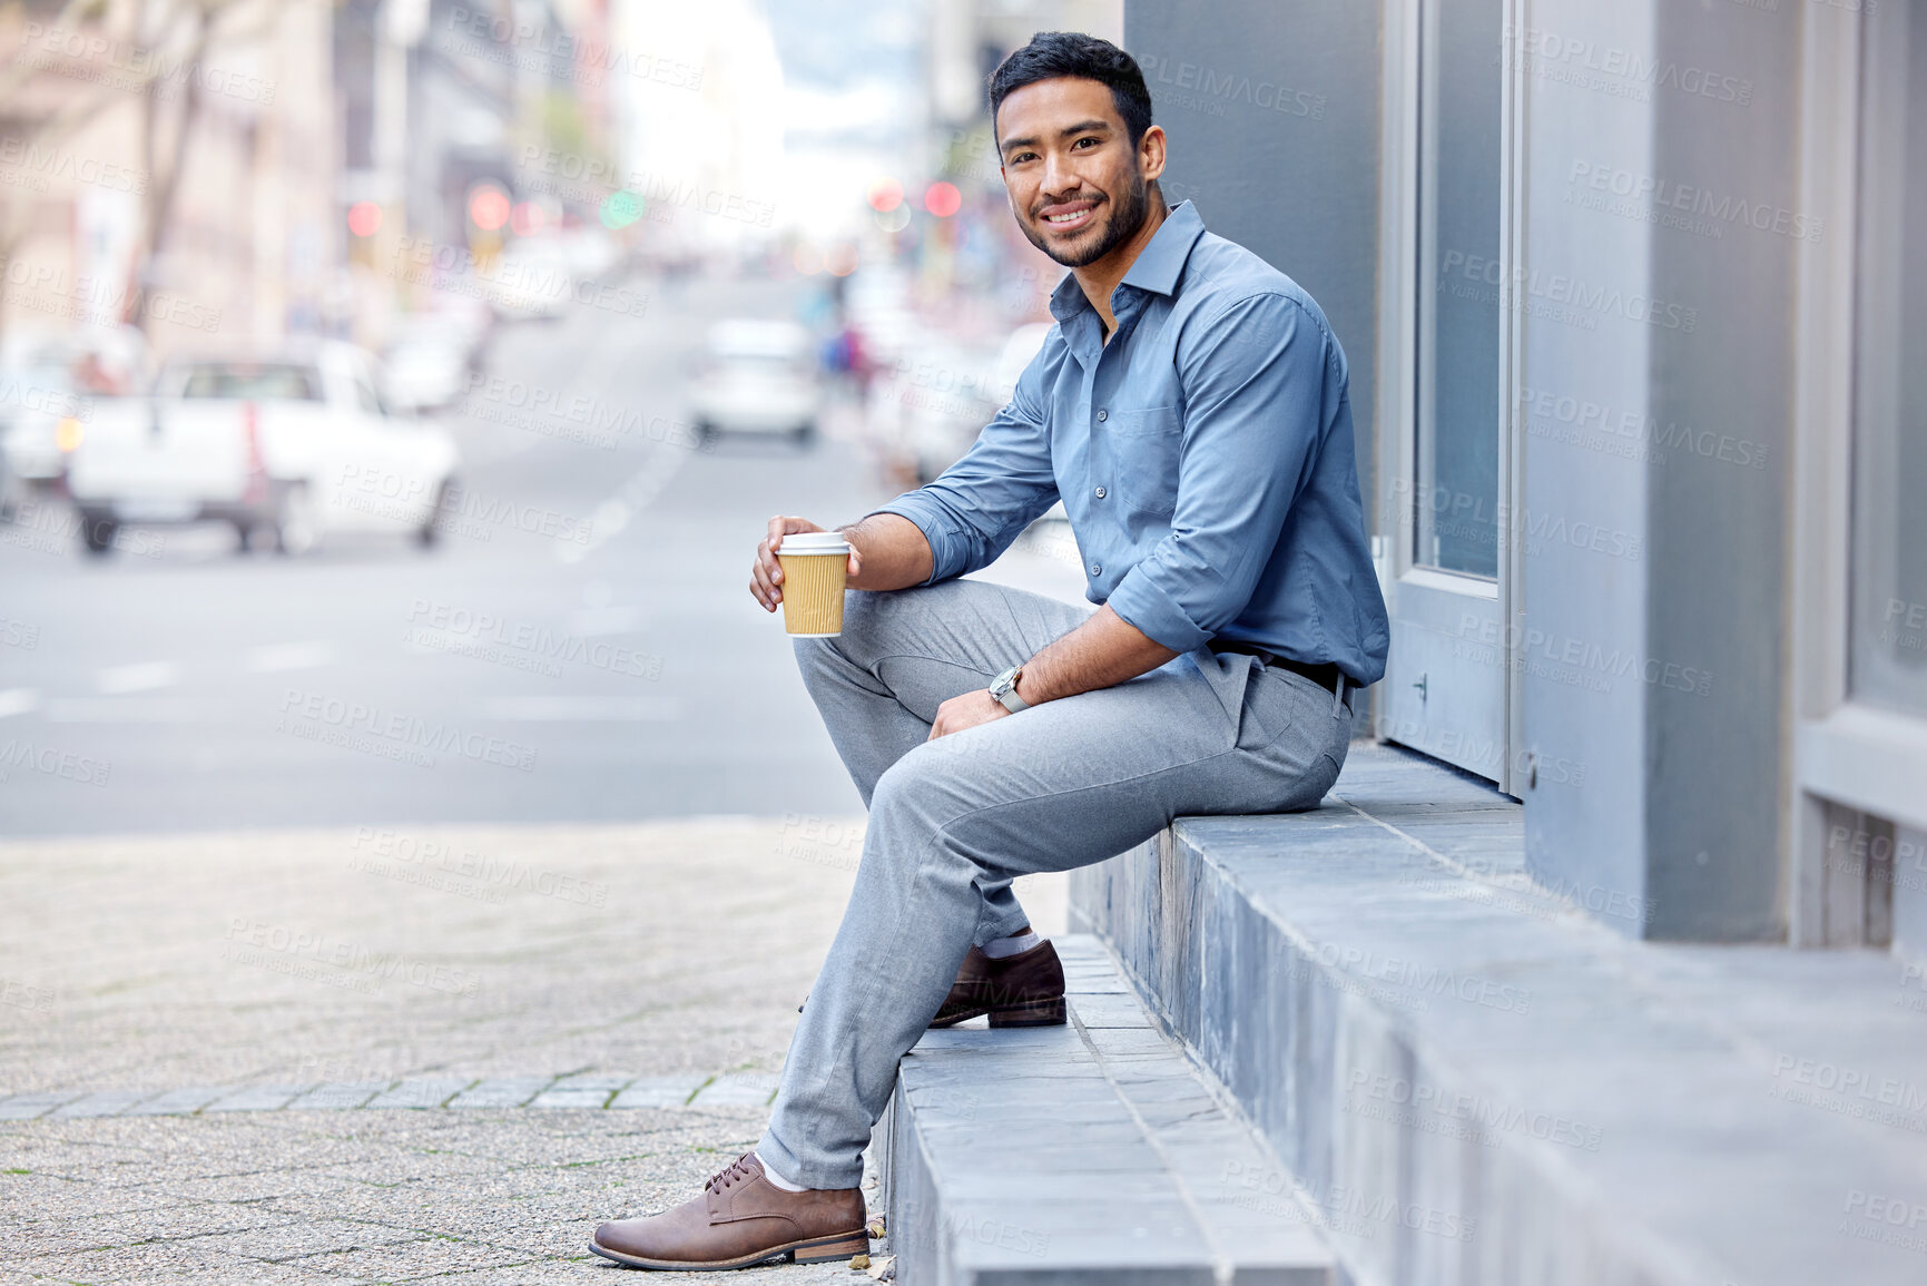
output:
<path id="1" fill-rule="evenodd" d="M 1316 812 L 1185 817 L 1073 873 L 1071 925 L 1351 1282 L 1927 1280 L 1919 972 L 1630 941 L 1624 897 L 1534 887 L 1518 804 L 1355 746 Z"/>

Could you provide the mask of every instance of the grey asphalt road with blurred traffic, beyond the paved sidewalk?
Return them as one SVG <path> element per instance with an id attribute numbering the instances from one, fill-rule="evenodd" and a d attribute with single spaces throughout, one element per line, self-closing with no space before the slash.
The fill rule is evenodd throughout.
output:
<path id="1" fill-rule="evenodd" d="M 0 526 L 0 833 L 858 812 L 746 584 L 771 513 L 886 494 L 846 420 L 694 449 L 703 326 L 786 316 L 788 287 L 630 289 L 640 318 L 497 330 L 443 415 L 464 499 L 436 549 L 198 526 L 91 559 L 66 511 Z M 1079 592 L 1073 559 L 1006 563 Z"/>

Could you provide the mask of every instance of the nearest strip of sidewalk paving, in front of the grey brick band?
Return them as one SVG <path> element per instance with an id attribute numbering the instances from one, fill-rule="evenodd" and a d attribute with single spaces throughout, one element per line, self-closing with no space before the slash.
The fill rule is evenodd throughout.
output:
<path id="1" fill-rule="evenodd" d="M 493 1109 L 13 1124 L 0 1282 L 644 1280 L 590 1255 L 595 1224 L 696 1195 L 765 1120 Z M 869 1280 L 844 1263 L 669 1280 L 686 1276 Z"/>

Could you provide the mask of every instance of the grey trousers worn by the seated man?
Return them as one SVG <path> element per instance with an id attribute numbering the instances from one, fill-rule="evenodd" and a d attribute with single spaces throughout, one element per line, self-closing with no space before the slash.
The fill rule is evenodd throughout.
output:
<path id="1" fill-rule="evenodd" d="M 1303 675 L 1202 648 L 1127 683 L 927 740 L 944 700 L 987 686 L 1089 611 L 946 580 L 850 590 L 842 636 L 796 640 L 869 827 L 757 1143 L 779 1174 L 805 1188 L 861 1184 L 896 1062 L 971 943 L 1027 924 L 1014 877 L 1102 862 L 1185 814 L 1314 808 L 1337 779 L 1351 696 L 1339 702 Z"/>

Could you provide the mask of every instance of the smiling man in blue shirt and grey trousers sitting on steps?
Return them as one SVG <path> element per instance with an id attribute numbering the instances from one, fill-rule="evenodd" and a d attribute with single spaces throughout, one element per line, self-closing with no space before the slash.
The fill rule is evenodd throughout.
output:
<path id="1" fill-rule="evenodd" d="M 1114 44 L 1037 35 L 990 77 L 990 116 L 1017 226 L 1071 268 L 1058 326 L 962 461 L 840 528 L 844 632 L 796 654 L 869 806 L 856 889 L 769 1132 L 705 1195 L 603 1224 L 594 1249 L 619 1263 L 865 1249 L 861 1151 L 898 1058 L 933 1020 L 1064 1020 L 1010 881 L 1181 814 L 1316 806 L 1384 675 L 1345 355 L 1318 305 L 1164 206 L 1164 131 Z M 1060 497 L 1096 611 L 958 580 Z M 813 530 L 771 519 L 765 609 L 775 549 Z"/>

